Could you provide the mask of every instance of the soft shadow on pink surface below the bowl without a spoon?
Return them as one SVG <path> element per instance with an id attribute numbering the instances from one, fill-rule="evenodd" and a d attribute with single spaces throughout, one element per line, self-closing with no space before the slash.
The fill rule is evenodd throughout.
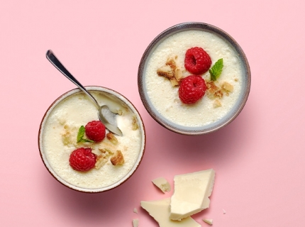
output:
<path id="1" fill-rule="evenodd" d="M 165 157 L 170 162 L 179 162 L 181 165 L 206 165 L 206 161 L 221 162 L 223 165 L 238 155 L 239 146 L 246 143 L 247 137 L 250 136 L 251 128 L 254 122 L 249 122 L 246 113 L 240 114 L 228 126 L 206 135 L 187 136 L 172 133 L 157 123 L 151 124 L 153 128 L 148 130 L 148 153 L 154 150 L 158 143 L 160 148 L 159 158 Z M 154 133 L 154 132 L 158 133 Z M 153 138 L 153 139 L 152 139 Z M 156 151 L 156 150 L 155 150 Z M 146 154 L 147 158 L 149 154 Z M 152 157 L 153 158 L 153 157 Z M 217 163 L 215 163 L 217 164 Z M 180 166 L 181 166 L 180 165 Z M 179 165 L 176 165 L 179 166 Z"/>

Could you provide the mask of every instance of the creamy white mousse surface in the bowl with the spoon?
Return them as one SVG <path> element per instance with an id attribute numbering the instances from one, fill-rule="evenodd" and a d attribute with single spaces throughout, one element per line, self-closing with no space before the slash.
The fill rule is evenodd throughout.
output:
<path id="1" fill-rule="evenodd" d="M 118 128 L 123 136 L 116 135 L 118 143 L 113 144 L 105 138 L 101 143 L 77 143 L 77 133 L 80 126 L 89 121 L 99 119 L 94 103 L 83 92 L 77 92 L 60 101 L 46 116 L 41 128 L 40 150 L 43 150 L 47 167 L 53 175 L 57 175 L 64 184 L 77 189 L 111 188 L 113 184 L 128 178 L 131 170 L 139 164 L 140 153 L 143 151 L 143 126 L 138 121 L 139 116 L 116 96 L 105 92 L 90 92 L 101 105 L 108 105 L 113 111 L 118 111 L 116 117 Z M 138 127 L 138 128 L 137 128 Z M 108 133 L 108 131 L 106 131 Z M 145 137 L 145 136 L 144 136 Z M 101 150 L 121 150 L 123 165 L 112 165 L 108 160 L 99 169 L 93 168 L 87 172 L 78 172 L 70 167 L 69 157 L 76 148 L 92 148 L 92 152 L 101 155 Z"/>

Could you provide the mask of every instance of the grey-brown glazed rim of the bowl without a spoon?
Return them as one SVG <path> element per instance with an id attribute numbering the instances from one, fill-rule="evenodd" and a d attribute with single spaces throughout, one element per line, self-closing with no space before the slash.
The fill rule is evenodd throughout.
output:
<path id="1" fill-rule="evenodd" d="M 229 118 L 226 118 L 226 121 L 221 121 L 220 123 L 214 124 L 214 126 L 211 126 L 206 129 L 202 129 L 202 127 L 184 127 L 171 123 L 170 121 L 165 121 L 165 117 L 156 114 L 152 106 L 150 106 L 149 98 L 145 94 L 145 89 L 144 89 L 145 65 L 147 63 L 148 57 L 150 57 L 150 52 L 152 52 L 157 47 L 157 45 L 162 42 L 162 40 L 165 40 L 170 35 L 174 35 L 175 33 L 187 31 L 187 30 L 209 31 L 211 33 L 215 33 L 216 35 L 226 40 L 228 43 L 230 43 L 233 46 L 233 48 L 235 48 L 236 52 L 240 56 L 241 65 L 245 71 L 244 73 L 245 88 L 242 89 L 242 94 L 241 94 L 242 101 L 240 101 L 235 111 L 233 111 L 233 114 Z M 221 28 L 212 26 L 209 23 L 202 23 L 202 22 L 179 23 L 170 28 L 167 28 L 165 31 L 162 31 L 162 33 L 157 35 L 153 39 L 153 41 L 148 45 L 145 52 L 143 53 L 143 56 L 141 57 L 140 65 L 138 67 L 138 92 L 140 94 L 140 99 L 143 102 L 143 105 L 145 106 L 145 109 L 148 111 L 148 114 L 150 114 L 150 116 L 152 116 L 155 119 L 155 121 L 157 121 L 157 123 L 159 123 L 161 126 L 169 129 L 170 131 L 173 131 L 174 133 L 179 133 L 182 135 L 204 135 L 206 133 L 218 131 L 220 128 L 223 128 L 224 126 L 228 125 L 228 123 L 231 123 L 243 110 L 243 107 L 245 106 L 245 103 L 248 100 L 248 96 L 250 93 L 250 84 L 251 84 L 250 65 L 248 63 L 247 57 L 245 56 L 245 52 L 243 52 L 243 49 L 231 37 L 231 35 L 223 31 Z"/>

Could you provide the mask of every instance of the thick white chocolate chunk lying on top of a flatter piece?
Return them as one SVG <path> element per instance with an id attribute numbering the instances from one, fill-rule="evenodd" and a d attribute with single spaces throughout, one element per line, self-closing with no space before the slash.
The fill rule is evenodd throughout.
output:
<path id="1" fill-rule="evenodd" d="M 170 219 L 180 220 L 210 205 L 215 171 L 202 170 L 174 177 L 174 194 L 170 202 Z"/>

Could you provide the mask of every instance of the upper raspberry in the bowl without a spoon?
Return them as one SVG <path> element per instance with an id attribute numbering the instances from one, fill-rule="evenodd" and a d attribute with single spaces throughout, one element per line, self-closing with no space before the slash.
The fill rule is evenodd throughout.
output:
<path id="1" fill-rule="evenodd" d="M 184 67 L 192 74 L 204 74 L 211 64 L 211 57 L 202 48 L 190 48 L 185 53 Z"/>

